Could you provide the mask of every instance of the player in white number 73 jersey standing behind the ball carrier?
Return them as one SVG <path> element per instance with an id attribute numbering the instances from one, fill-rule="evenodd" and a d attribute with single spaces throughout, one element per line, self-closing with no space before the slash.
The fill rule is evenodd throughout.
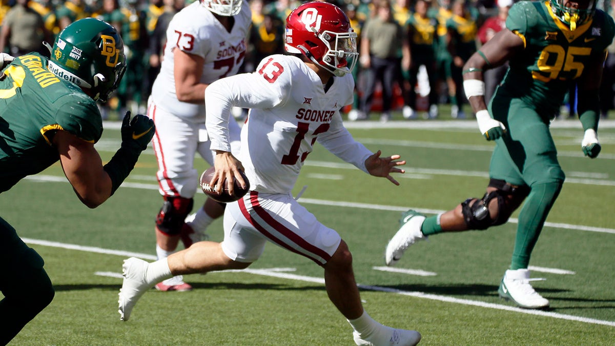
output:
<path id="1" fill-rule="evenodd" d="M 158 131 L 153 139 L 157 179 L 164 199 L 156 217 L 159 259 L 189 247 L 205 236 L 205 228 L 224 213 L 224 205 L 207 199 L 196 213 L 194 204 L 199 153 L 210 165 L 213 154 L 205 131 L 205 88 L 236 74 L 244 61 L 245 38 L 252 23 L 245 0 L 200 0 L 178 12 L 167 28 L 161 71 L 149 98 L 148 116 Z M 233 150 L 239 150 L 240 127 L 231 123 Z M 187 223 L 186 223 L 187 221 Z M 189 291 L 181 276 L 158 283 L 160 291 Z"/>

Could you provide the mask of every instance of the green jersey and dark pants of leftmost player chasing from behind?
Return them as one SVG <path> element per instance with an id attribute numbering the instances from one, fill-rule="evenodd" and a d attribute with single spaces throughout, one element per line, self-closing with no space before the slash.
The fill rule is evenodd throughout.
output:
<path id="1" fill-rule="evenodd" d="M 68 131 L 93 143 L 103 132 L 94 100 L 73 83 L 47 70 L 47 62 L 47 58 L 39 54 L 22 55 L 3 71 L 0 81 L 0 192 L 60 159 L 52 145 L 56 131 Z M 54 289 L 43 268 L 44 260 L 2 218 L 0 262 L 0 276 L 5 278 L 0 283 L 4 294 L 0 307 L 2 312 L 11 313 L 2 318 L 0 327 L 0 344 L 4 345 L 24 323 L 52 301 Z"/>

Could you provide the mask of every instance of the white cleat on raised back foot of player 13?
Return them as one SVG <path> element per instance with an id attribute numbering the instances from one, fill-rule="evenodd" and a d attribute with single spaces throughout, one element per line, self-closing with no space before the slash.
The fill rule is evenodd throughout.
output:
<path id="1" fill-rule="evenodd" d="M 145 260 L 138 259 L 136 257 L 130 257 L 124 260 L 122 265 L 122 275 L 124 276 L 124 282 L 122 288 L 119 290 L 119 319 L 122 321 L 128 321 L 132 308 L 137 304 L 137 300 L 143 293 L 152 287 L 145 281 L 145 274 L 147 272 L 149 263 Z"/>

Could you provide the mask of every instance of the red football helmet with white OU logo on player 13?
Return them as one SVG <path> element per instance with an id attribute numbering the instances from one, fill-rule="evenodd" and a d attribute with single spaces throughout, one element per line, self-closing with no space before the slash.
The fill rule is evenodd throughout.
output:
<path id="1" fill-rule="evenodd" d="M 357 33 L 343 10 L 328 2 L 308 2 L 286 18 L 285 49 L 303 54 L 336 76 L 357 63 Z"/>

